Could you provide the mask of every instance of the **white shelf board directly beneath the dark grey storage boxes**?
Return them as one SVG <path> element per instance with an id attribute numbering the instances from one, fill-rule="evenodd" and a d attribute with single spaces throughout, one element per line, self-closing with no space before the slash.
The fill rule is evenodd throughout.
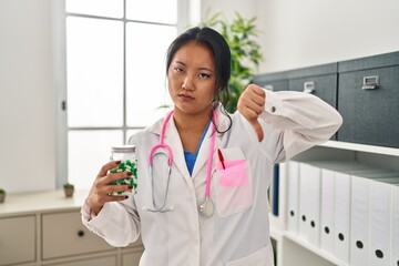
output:
<path id="1" fill-rule="evenodd" d="M 328 141 L 319 146 L 399 156 L 399 149 L 396 147 L 374 146 L 340 141 Z"/>

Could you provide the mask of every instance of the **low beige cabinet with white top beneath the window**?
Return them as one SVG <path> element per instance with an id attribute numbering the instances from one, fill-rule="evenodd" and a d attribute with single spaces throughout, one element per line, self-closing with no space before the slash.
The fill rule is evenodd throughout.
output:
<path id="1" fill-rule="evenodd" d="M 137 266 L 144 249 L 140 239 L 116 248 L 82 224 L 86 194 L 8 195 L 0 204 L 0 266 Z"/>

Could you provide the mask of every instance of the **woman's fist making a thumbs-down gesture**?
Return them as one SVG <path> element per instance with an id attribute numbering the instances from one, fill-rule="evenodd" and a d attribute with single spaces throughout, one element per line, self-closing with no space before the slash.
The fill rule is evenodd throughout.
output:
<path id="1" fill-rule="evenodd" d="M 265 91 L 258 85 L 249 84 L 241 94 L 237 103 L 238 111 L 254 127 L 259 142 L 264 139 L 264 133 L 257 119 L 264 111 L 265 102 Z"/>

